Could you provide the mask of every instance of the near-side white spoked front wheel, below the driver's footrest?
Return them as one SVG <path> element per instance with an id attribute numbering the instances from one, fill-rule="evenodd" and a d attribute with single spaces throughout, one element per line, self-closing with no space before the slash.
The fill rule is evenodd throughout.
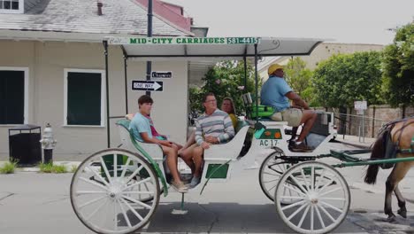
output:
<path id="1" fill-rule="evenodd" d="M 288 196 L 285 189 L 294 191 Z M 284 206 L 283 199 L 295 199 Z M 318 161 L 306 161 L 289 168 L 275 191 L 280 218 L 299 233 L 328 233 L 336 229 L 349 211 L 348 183 L 333 167 Z"/>

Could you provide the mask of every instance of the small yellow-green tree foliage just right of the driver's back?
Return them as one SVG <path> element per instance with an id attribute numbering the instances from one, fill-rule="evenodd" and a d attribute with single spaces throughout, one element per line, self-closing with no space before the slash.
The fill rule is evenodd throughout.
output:
<path id="1" fill-rule="evenodd" d="M 290 59 L 285 66 L 285 79 L 289 86 L 310 105 L 318 105 L 315 99 L 314 89 L 311 86 L 312 71 L 306 68 L 302 58 Z"/>

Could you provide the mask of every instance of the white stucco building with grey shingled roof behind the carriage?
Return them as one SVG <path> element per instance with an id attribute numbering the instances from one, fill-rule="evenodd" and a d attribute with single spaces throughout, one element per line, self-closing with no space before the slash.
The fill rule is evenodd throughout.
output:
<path id="1" fill-rule="evenodd" d="M 50 123 L 58 139 L 55 160 L 82 160 L 106 148 L 108 127 L 111 147 L 119 144 L 114 124 L 119 119 L 107 126 L 105 108 L 109 101 L 110 116 L 126 113 L 123 51 L 109 48 L 107 100 L 102 40 L 146 36 L 147 10 L 135 0 L 99 2 L 102 15 L 96 1 L 0 1 L 0 160 L 9 157 L 8 129 L 19 124 L 43 129 Z M 190 19 L 176 9 L 180 6 L 154 4 L 154 36 L 194 36 Z M 127 107 L 133 113 L 145 92 L 131 90 L 131 80 L 145 80 L 146 62 L 128 59 L 127 66 Z M 159 131 L 181 143 L 187 134 L 188 67 L 182 60 L 152 63 L 153 71 L 173 73 L 164 80 L 163 92 L 151 94 L 153 120 Z"/>

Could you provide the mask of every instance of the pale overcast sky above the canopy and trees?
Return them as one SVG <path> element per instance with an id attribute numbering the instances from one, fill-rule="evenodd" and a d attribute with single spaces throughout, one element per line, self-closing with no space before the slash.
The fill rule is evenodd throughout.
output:
<path id="1" fill-rule="evenodd" d="M 163 0 L 184 7 L 208 36 L 331 39 L 333 43 L 392 43 L 414 20 L 414 0 Z"/>

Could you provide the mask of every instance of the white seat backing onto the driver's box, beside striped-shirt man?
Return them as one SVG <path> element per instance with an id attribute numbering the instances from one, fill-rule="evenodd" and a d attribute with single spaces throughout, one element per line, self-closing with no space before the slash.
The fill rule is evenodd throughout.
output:
<path id="1" fill-rule="evenodd" d="M 244 125 L 229 142 L 213 144 L 204 151 L 204 160 L 236 160 L 244 144 L 249 125 Z"/>

